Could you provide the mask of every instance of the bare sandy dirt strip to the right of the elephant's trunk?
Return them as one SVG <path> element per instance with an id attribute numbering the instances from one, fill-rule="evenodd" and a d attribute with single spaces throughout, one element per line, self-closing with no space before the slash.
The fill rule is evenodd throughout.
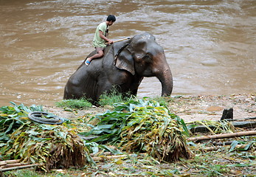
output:
<path id="1" fill-rule="evenodd" d="M 170 103 L 170 111 L 185 122 L 219 120 L 224 109 L 229 108 L 233 108 L 234 119 L 256 117 L 256 94 L 186 96 L 175 98 L 174 103 Z"/>

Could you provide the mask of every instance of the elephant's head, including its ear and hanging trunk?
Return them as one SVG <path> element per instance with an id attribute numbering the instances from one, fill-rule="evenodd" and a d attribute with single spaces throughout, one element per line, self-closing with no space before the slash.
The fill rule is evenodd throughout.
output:
<path id="1" fill-rule="evenodd" d="M 120 46 L 122 45 L 122 46 Z M 173 90 L 173 77 L 162 46 L 149 33 L 135 35 L 125 43 L 114 45 L 116 67 L 142 77 L 156 76 L 162 83 L 162 96 Z"/>

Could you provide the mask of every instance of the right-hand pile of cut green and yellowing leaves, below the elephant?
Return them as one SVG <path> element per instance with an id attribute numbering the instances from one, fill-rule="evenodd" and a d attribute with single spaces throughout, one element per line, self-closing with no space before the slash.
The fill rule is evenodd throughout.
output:
<path id="1" fill-rule="evenodd" d="M 176 162 L 192 155 L 184 136 L 184 122 L 153 100 L 131 100 L 114 104 L 114 111 L 97 114 L 97 125 L 80 133 L 95 136 L 91 142 L 118 145 L 127 152 L 148 153 L 160 162 Z M 182 125 L 184 127 L 182 128 Z"/>

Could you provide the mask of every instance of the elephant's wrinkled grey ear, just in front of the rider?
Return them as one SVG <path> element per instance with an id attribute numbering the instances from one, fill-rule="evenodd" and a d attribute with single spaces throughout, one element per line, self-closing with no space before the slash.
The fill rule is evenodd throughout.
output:
<path id="1" fill-rule="evenodd" d="M 114 52 L 115 66 L 118 69 L 125 69 L 126 71 L 131 72 L 131 74 L 134 75 L 135 74 L 134 59 L 128 47 L 129 47 L 129 43 L 126 43 L 125 45 L 121 46 L 118 50 L 115 50 L 117 51 L 117 52 Z"/>

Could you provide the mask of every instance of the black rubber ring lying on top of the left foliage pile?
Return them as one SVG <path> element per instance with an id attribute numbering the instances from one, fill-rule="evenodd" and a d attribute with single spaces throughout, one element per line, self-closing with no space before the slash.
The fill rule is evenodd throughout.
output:
<path id="1" fill-rule="evenodd" d="M 62 124 L 64 120 L 58 116 L 51 116 L 48 118 L 43 118 L 47 117 L 49 113 L 46 112 L 40 112 L 40 111 L 35 111 L 31 112 L 28 114 L 28 117 L 32 119 L 32 121 L 38 122 L 38 123 L 44 123 L 44 124 Z"/>

